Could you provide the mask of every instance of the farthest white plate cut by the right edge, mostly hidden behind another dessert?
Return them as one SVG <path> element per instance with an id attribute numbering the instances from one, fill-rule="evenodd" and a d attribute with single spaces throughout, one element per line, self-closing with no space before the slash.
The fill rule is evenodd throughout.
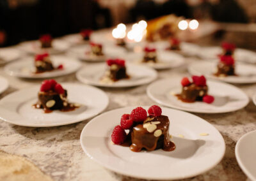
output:
<path id="1" fill-rule="evenodd" d="M 202 59 L 211 60 L 216 59 L 218 55 L 222 52 L 221 47 L 202 47 L 198 52 L 198 56 Z M 256 63 L 256 52 L 250 50 L 236 48 L 234 52 L 234 57 L 236 61 Z"/>

